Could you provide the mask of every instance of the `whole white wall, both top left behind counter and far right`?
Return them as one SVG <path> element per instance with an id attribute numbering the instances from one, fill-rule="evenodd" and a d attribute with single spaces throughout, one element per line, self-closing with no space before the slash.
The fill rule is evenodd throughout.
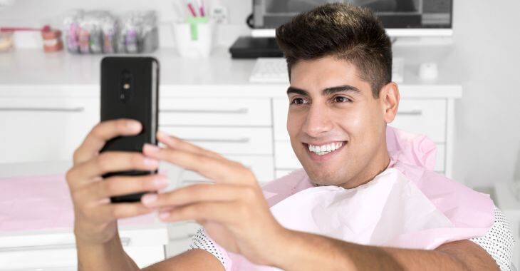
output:
<path id="1" fill-rule="evenodd" d="M 172 3 L 17 0 L 0 11 L 0 25 L 60 26 L 63 15 L 76 8 L 157 9 L 165 22 L 175 19 Z M 250 0 L 222 0 L 222 4 L 229 8 L 230 24 L 242 25 L 251 12 Z M 454 0 L 454 44 L 443 52 L 457 59 L 464 88 L 456 104 L 454 176 L 471 186 L 520 179 L 519 11 L 518 0 Z"/>

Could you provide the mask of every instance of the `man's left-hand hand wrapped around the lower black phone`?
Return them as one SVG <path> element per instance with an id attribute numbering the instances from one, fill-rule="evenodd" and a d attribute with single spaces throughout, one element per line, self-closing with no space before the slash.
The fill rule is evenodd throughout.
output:
<path id="1" fill-rule="evenodd" d="M 153 210 L 142 203 L 111 204 L 110 197 L 167 186 L 161 175 L 101 178 L 105 173 L 123 170 L 156 170 L 159 162 L 145 158 L 142 153 L 106 152 L 100 154 L 105 143 L 116 136 L 133 136 L 141 131 L 137 121 L 117 120 L 98 124 L 74 152 L 73 168 L 66 179 L 74 205 L 74 232 L 83 244 L 100 245 L 117 233 L 118 218 L 128 218 Z"/>

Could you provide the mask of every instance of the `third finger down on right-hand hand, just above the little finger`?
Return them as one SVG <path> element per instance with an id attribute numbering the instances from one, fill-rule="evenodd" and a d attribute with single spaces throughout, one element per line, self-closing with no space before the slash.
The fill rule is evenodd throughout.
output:
<path id="1" fill-rule="evenodd" d="M 187 205 L 202 201 L 233 201 L 255 198 L 254 188 L 245 185 L 197 184 L 189 185 L 161 194 L 147 194 L 141 202 L 148 207 Z"/>

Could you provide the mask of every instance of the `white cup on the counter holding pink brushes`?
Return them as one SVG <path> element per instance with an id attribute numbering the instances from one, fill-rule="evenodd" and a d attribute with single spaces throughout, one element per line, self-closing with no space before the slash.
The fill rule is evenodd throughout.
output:
<path id="1" fill-rule="evenodd" d="M 212 51 L 214 24 L 205 17 L 175 23 L 175 46 L 184 58 L 207 58 Z"/>

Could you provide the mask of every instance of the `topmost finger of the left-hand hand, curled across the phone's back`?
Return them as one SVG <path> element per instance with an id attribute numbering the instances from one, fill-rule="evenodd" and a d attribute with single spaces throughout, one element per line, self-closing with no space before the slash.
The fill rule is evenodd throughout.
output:
<path id="1" fill-rule="evenodd" d="M 117 136 L 137 135 L 137 133 L 141 131 L 141 128 L 141 123 L 138 121 L 123 118 L 98 123 L 74 152 L 74 165 L 84 163 L 94 158 L 108 140 Z"/>

